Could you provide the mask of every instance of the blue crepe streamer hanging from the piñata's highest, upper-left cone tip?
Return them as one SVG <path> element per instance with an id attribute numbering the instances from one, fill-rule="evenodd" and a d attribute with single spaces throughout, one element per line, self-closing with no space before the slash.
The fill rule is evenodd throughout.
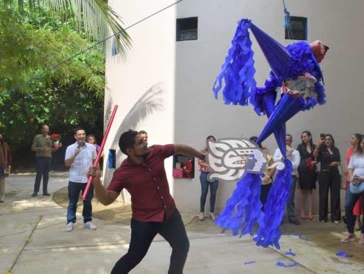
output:
<path id="1" fill-rule="evenodd" d="M 225 63 L 221 66 L 221 71 L 213 84 L 213 93 L 217 99 L 224 79 L 225 87 L 222 94 L 227 105 L 248 105 L 249 92 L 256 87 L 254 51 L 251 49 L 252 42 L 248 32 L 250 26 L 249 19 L 241 19 L 238 22 Z"/>

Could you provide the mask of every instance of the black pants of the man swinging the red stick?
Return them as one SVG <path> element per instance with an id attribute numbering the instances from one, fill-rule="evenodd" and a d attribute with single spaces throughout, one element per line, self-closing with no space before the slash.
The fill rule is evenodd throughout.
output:
<path id="1" fill-rule="evenodd" d="M 159 233 L 172 247 L 169 274 L 182 274 L 184 263 L 187 259 L 189 242 L 182 222 L 180 212 L 176 209 L 172 216 L 162 222 L 131 221 L 132 237 L 128 253 L 125 254 L 114 266 L 111 274 L 129 273 L 138 265 L 154 239 Z"/>

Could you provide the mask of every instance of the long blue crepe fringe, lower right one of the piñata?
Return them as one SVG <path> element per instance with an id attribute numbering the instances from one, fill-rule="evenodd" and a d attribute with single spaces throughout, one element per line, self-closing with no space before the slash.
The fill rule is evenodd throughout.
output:
<path id="1" fill-rule="evenodd" d="M 288 196 L 292 184 L 292 163 L 290 160 L 284 160 L 285 168 L 277 172 L 267 201 L 264 204 L 264 219 L 254 238 L 257 246 L 268 247 L 274 245 L 280 249 L 279 238 L 282 235 L 279 226 L 281 225 L 284 208 L 287 204 Z"/>

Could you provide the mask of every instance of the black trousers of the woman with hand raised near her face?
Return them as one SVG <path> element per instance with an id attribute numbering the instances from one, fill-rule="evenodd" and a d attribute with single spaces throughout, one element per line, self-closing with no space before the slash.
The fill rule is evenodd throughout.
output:
<path id="1" fill-rule="evenodd" d="M 319 220 L 328 220 L 328 200 L 330 188 L 331 221 L 341 219 L 340 173 L 338 170 L 321 171 L 319 175 Z"/>

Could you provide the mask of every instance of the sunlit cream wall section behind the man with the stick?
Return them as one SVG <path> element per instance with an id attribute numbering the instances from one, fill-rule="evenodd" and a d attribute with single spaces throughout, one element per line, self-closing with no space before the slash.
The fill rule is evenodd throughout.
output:
<path id="1" fill-rule="evenodd" d="M 125 26 L 131 25 L 150 13 L 170 4 L 159 1 L 110 1 L 111 6 L 123 15 Z M 173 143 L 175 101 L 175 7 L 142 22 L 128 30 L 133 39 L 133 48 L 127 60 L 115 58 L 106 65 L 107 88 L 105 90 L 105 115 L 110 105 L 117 104 L 119 110 L 105 147 L 118 151 L 116 166 L 123 156 L 118 148 L 121 133 L 128 129 L 145 130 L 150 143 Z M 108 170 L 104 161 L 104 170 Z M 172 166 L 172 159 L 166 165 Z M 105 174 L 105 185 L 110 183 L 113 170 Z M 167 173 L 172 178 L 172 170 Z M 172 181 L 172 180 L 170 180 Z M 173 189 L 173 185 L 171 185 Z M 123 191 L 121 201 L 128 202 L 129 195 Z"/>

